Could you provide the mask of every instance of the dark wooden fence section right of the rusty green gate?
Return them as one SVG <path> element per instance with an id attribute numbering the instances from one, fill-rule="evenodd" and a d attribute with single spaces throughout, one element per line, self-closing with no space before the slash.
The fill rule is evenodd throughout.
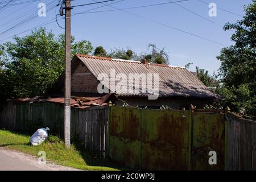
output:
<path id="1" fill-rule="evenodd" d="M 226 170 L 256 171 L 256 121 L 228 113 L 226 123 Z"/>

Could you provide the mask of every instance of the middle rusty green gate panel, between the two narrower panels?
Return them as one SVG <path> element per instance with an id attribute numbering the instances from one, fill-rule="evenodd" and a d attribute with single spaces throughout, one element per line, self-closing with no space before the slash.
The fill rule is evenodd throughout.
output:
<path id="1" fill-rule="evenodd" d="M 142 169 L 189 169 L 189 111 L 143 110 Z"/>

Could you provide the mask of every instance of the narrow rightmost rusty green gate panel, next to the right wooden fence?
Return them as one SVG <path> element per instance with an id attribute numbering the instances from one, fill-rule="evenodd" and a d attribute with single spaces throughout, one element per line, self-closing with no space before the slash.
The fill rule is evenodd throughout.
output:
<path id="1" fill-rule="evenodd" d="M 192 170 L 224 170 L 225 114 L 192 114 Z M 209 151 L 216 151 L 217 164 L 210 165 Z"/>

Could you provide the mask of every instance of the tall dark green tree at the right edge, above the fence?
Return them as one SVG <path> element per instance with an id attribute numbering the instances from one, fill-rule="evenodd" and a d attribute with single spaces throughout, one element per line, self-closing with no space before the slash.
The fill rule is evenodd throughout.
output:
<path id="1" fill-rule="evenodd" d="M 236 23 L 226 23 L 224 30 L 234 30 L 234 45 L 223 48 L 217 59 L 221 61 L 220 94 L 225 105 L 240 111 L 241 105 L 251 114 L 256 113 L 256 1 L 245 6 L 245 15 Z"/>

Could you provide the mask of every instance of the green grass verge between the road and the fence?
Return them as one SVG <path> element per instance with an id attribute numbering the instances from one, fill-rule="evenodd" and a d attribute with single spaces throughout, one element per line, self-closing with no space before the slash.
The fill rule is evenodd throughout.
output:
<path id="1" fill-rule="evenodd" d="M 31 146 L 30 136 L 0 130 L 0 147 L 38 156 L 39 151 L 46 152 L 46 158 L 62 166 L 84 170 L 117 170 L 114 164 L 107 160 L 95 159 L 85 151 L 79 151 L 74 145 L 66 149 L 63 141 L 55 136 L 49 136 L 47 141 L 39 146 Z M 39 157 L 39 156 L 38 156 Z"/>

